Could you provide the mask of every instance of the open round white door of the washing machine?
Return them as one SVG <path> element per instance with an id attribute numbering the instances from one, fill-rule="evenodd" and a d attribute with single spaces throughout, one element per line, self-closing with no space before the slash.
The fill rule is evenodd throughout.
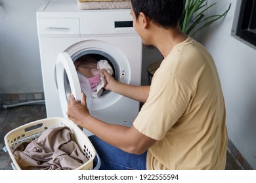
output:
<path id="1" fill-rule="evenodd" d="M 68 78 L 68 86 L 66 86 L 66 77 Z M 87 96 L 87 107 L 89 111 L 92 108 L 92 93 L 91 93 L 91 86 L 87 78 L 84 78 L 83 81 L 85 87 L 83 87 L 83 92 Z M 70 88 L 71 93 L 74 95 L 75 100 L 81 101 L 81 86 L 79 82 L 79 78 L 77 76 L 77 71 L 75 69 L 75 65 L 70 58 L 69 54 L 66 52 L 60 53 L 57 56 L 56 61 L 56 80 L 58 85 L 58 96 L 60 99 L 60 105 L 62 108 L 62 113 L 64 118 L 68 118 L 66 112 L 68 108 L 68 97 L 70 93 L 67 93 L 66 88 Z"/>

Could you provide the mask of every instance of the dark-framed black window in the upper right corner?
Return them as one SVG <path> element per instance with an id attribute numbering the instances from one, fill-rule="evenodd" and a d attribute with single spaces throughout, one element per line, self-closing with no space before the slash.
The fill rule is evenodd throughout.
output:
<path id="1" fill-rule="evenodd" d="M 256 48 L 256 0 L 237 1 L 232 35 Z"/>

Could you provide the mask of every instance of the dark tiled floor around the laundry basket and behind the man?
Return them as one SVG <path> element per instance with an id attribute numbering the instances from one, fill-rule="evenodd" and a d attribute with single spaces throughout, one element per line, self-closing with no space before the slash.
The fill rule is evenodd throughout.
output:
<path id="1" fill-rule="evenodd" d="M 16 127 L 46 118 L 45 105 L 24 105 L 22 107 L 0 108 L 0 170 L 12 169 L 11 159 L 7 152 L 2 150 L 5 146 L 5 135 Z M 236 159 L 227 152 L 227 170 L 239 170 L 241 167 L 236 163 Z"/>

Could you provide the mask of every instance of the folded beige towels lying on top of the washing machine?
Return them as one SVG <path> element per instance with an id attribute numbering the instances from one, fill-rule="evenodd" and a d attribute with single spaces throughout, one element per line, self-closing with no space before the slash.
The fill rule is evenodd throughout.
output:
<path id="1" fill-rule="evenodd" d="M 84 2 L 80 2 L 84 1 Z M 80 10 L 95 10 L 95 9 L 129 9 L 131 8 L 130 1 L 85 1 L 77 0 L 78 8 Z"/>

